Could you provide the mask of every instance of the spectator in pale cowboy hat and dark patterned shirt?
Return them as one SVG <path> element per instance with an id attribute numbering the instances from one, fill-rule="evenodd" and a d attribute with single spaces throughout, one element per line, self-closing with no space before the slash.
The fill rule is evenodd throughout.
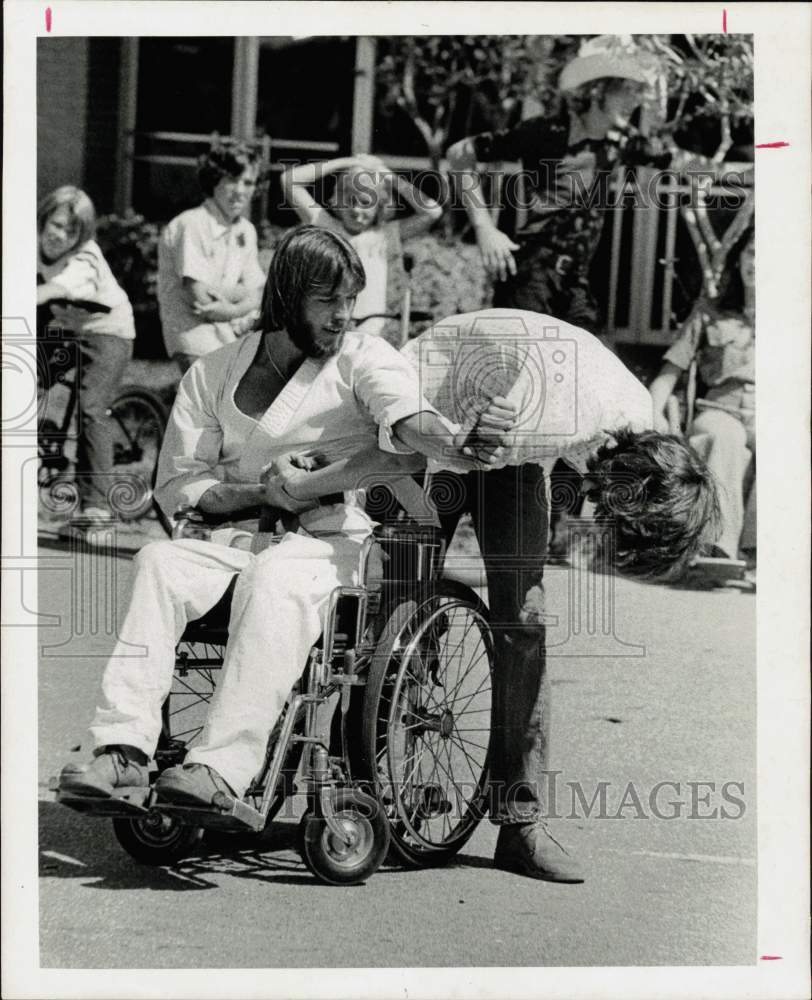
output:
<path id="1" fill-rule="evenodd" d="M 449 148 L 449 166 L 460 178 L 462 202 L 494 280 L 494 306 L 545 313 L 599 333 L 589 270 L 612 204 L 612 171 L 618 164 L 664 167 L 670 161 L 669 153 L 628 136 L 631 116 L 656 76 L 654 57 L 630 36 L 589 39 L 561 71 L 557 108 Z M 513 238 L 497 228 L 477 173 L 478 163 L 502 160 L 519 160 L 526 181 L 527 218 Z M 576 497 L 579 479 L 556 462 L 552 495 Z M 551 511 L 553 555 L 566 555 L 565 515 L 576 513 L 577 503 Z"/>

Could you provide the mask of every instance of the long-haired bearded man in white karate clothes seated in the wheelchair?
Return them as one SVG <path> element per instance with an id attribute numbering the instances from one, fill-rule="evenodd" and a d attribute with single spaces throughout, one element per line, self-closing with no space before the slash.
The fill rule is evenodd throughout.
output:
<path id="1" fill-rule="evenodd" d="M 469 470 L 498 459 L 510 420 L 496 415 L 467 446 L 466 434 L 422 398 L 405 358 L 381 338 L 347 332 L 364 280 L 342 237 L 313 226 L 292 231 L 271 263 L 261 329 L 184 376 L 156 497 L 169 517 L 192 506 L 231 524 L 208 541 L 153 542 L 136 556 L 130 606 L 90 729 L 95 758 L 66 766 L 60 792 L 103 797 L 148 785 L 175 645 L 239 574 L 223 679 L 203 738 L 182 767 L 160 775 L 156 791 L 161 801 L 192 806 L 210 805 L 217 791 L 242 796 L 321 634 L 330 594 L 358 582 L 374 522 L 345 503 L 343 491 L 370 466 L 386 476 L 447 452 Z M 277 515 L 290 530 L 263 548 L 268 536 L 257 529 Z M 241 547 L 246 541 L 250 547 Z"/>

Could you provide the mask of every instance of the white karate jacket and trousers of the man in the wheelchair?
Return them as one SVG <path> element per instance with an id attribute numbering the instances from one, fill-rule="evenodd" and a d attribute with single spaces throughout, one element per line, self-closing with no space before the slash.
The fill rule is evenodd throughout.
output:
<path id="1" fill-rule="evenodd" d="M 386 341 L 348 333 L 327 361 L 306 360 L 260 420 L 234 392 L 260 343 L 251 334 L 197 361 L 181 382 L 158 467 L 156 496 L 171 514 L 221 482 L 256 483 L 286 452 L 317 449 L 334 461 L 378 438 L 398 420 L 435 412 L 411 365 Z M 206 541 L 153 542 L 135 559 L 121 636 L 102 679 L 96 747 L 129 744 L 152 755 L 161 728 L 175 645 L 186 623 L 216 604 L 239 573 L 229 643 L 200 744 L 187 756 L 208 764 L 243 794 L 259 770 L 268 733 L 310 647 L 336 586 L 357 582 L 360 548 L 373 522 L 360 507 L 335 504 L 300 517 L 298 534 L 259 555 Z M 145 647 L 146 655 L 135 650 Z"/>

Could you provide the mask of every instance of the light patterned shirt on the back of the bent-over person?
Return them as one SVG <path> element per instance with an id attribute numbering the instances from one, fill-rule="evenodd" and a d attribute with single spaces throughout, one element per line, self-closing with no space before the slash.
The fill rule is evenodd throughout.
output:
<path id="1" fill-rule="evenodd" d="M 449 316 L 403 353 L 425 398 L 463 427 L 473 426 L 492 396 L 517 404 L 516 440 L 502 465 L 547 466 L 564 456 L 584 468 L 613 431 L 654 425 L 651 396 L 623 362 L 593 334 L 543 313 Z"/>

